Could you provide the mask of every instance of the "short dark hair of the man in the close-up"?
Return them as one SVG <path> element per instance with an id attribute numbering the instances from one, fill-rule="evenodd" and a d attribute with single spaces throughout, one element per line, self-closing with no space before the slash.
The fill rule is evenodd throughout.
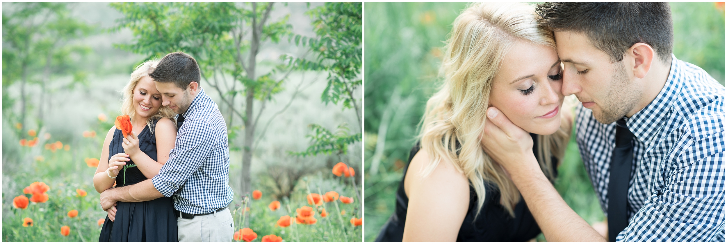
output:
<path id="1" fill-rule="evenodd" d="M 674 28 L 668 3 L 548 2 L 537 4 L 535 11 L 545 28 L 585 34 L 611 62 L 623 60 L 639 42 L 651 46 L 664 63 L 671 58 Z"/>

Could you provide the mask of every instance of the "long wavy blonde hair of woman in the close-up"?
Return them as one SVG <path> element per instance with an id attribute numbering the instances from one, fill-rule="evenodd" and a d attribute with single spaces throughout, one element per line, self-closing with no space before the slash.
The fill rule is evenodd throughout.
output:
<path id="1" fill-rule="evenodd" d="M 500 204 L 510 216 L 515 216 L 513 208 L 520 201 L 518 188 L 484 152 L 480 139 L 492 81 L 507 52 L 518 41 L 555 49 L 553 33 L 539 27 L 536 17 L 529 4 L 470 4 L 454 20 L 440 70 L 443 84 L 427 101 L 419 139 L 431 161 L 423 173 L 427 176 L 442 161 L 451 162 L 475 189 L 477 214 L 487 193 L 485 182 L 497 187 Z M 536 157 L 551 181 L 557 163 L 551 157 L 561 160 L 569 139 L 564 124 L 553 135 L 538 136 Z"/>

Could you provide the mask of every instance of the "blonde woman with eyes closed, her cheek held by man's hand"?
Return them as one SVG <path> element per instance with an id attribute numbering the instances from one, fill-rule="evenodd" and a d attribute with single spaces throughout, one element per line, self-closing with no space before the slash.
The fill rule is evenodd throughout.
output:
<path id="1" fill-rule="evenodd" d="M 486 109 L 529 131 L 553 181 L 569 139 L 561 60 L 528 4 L 472 4 L 456 20 L 443 86 L 427 102 L 419 143 L 377 241 L 526 241 L 540 233 L 507 172 L 481 141 Z"/>

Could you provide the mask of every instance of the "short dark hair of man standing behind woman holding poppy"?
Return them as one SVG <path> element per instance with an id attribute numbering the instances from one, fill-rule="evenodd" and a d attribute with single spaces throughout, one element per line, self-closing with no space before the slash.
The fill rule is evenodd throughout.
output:
<path id="1" fill-rule="evenodd" d="M 199 83 L 199 66 L 192 56 L 184 52 L 172 52 L 159 61 L 149 77 L 161 83 L 174 82 L 174 85 L 186 90 L 192 81 Z"/>

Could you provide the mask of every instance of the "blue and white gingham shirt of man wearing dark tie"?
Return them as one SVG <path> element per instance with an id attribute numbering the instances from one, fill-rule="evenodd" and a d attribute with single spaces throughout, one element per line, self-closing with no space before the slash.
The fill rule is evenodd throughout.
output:
<path id="1" fill-rule="evenodd" d="M 628 118 L 634 161 L 629 225 L 616 241 L 725 241 L 723 155 L 725 87 L 672 54 L 669 78 L 649 105 Z M 616 123 L 577 108 L 578 147 L 604 213 Z"/>

